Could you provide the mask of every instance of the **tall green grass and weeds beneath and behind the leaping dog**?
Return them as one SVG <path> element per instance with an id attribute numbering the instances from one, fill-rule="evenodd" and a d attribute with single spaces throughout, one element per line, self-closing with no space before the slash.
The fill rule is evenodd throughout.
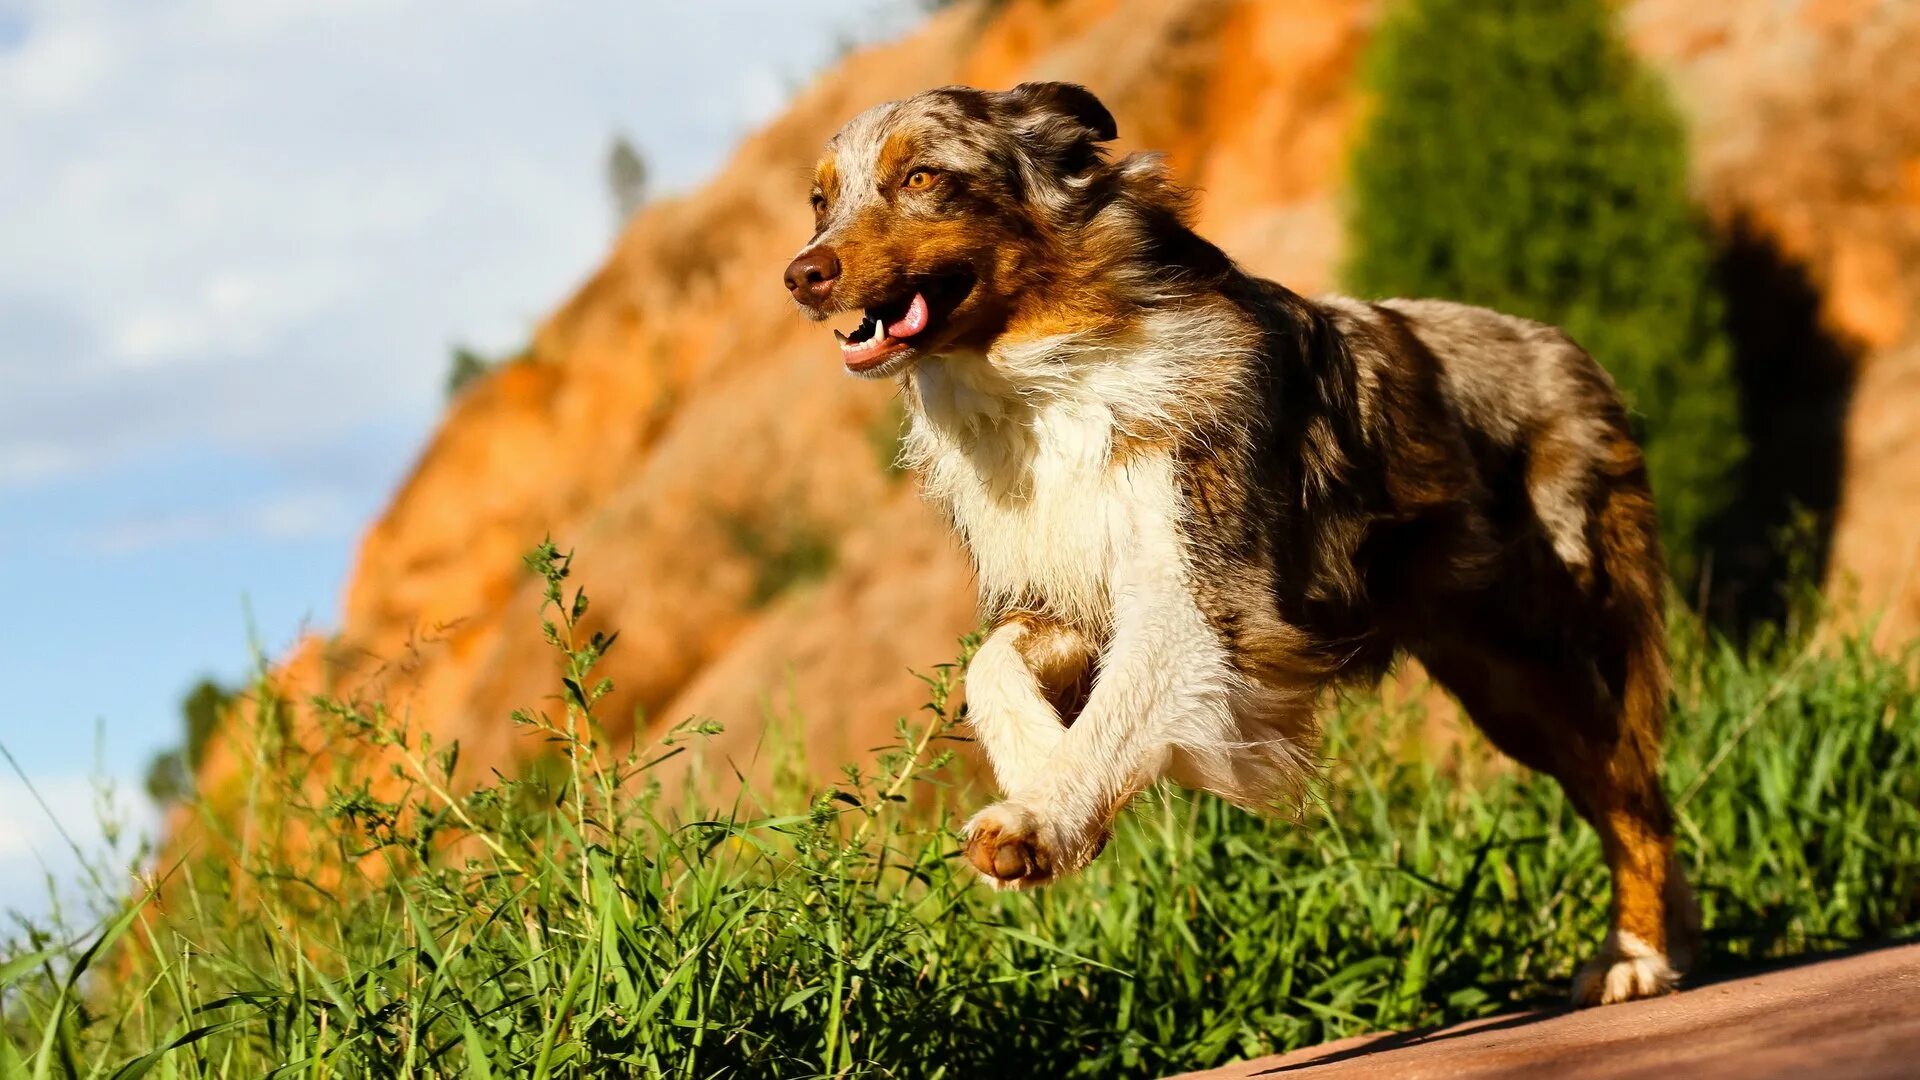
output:
<path id="1" fill-rule="evenodd" d="M 455 794 L 453 748 L 323 700 L 332 746 L 394 773 L 315 798 L 269 701 L 246 798 L 163 867 L 163 909 L 0 959 L 0 1076 L 1156 1076 L 1559 999 L 1599 940 L 1597 844 L 1559 792 L 1409 753 L 1419 717 L 1377 701 L 1331 717 L 1298 821 L 1158 794 L 1039 894 L 956 859 L 983 796 L 952 786 L 954 669 L 841 784 L 693 811 L 647 773 L 703 728 L 597 749 L 614 642 L 580 640 L 564 555 L 532 563 L 561 694 L 516 721 L 559 769 Z M 1912 657 L 1828 628 L 1684 626 L 1676 651 L 1709 963 L 1920 928 Z"/>

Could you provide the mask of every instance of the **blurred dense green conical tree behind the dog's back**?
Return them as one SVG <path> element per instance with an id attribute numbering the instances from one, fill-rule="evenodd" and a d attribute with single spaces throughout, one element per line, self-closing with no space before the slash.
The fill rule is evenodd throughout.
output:
<path id="1" fill-rule="evenodd" d="M 1348 286 L 1565 327 L 1638 413 L 1670 559 L 1690 575 L 1745 444 L 1665 90 L 1605 0 L 1402 0 L 1367 85 Z"/>

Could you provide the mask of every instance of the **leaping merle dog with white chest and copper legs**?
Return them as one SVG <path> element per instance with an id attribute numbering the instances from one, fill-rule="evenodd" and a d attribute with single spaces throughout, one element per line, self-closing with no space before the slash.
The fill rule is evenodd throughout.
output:
<path id="1" fill-rule="evenodd" d="M 1670 990 L 1697 940 L 1659 746 L 1667 577 L 1607 373 L 1438 300 L 1306 300 L 1188 225 L 1085 86 L 876 106 L 814 169 L 785 286 L 891 379 L 902 459 L 991 630 L 968 721 L 998 888 L 1085 867 L 1160 778 L 1248 807 L 1311 774 L 1315 703 L 1413 655 L 1599 832 L 1578 1003 Z"/>

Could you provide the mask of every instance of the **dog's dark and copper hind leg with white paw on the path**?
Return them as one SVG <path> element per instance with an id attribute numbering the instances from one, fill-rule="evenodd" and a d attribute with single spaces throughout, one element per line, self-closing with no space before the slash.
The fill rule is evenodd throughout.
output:
<path id="1" fill-rule="evenodd" d="M 1559 780 L 1599 832 L 1611 926 L 1574 978 L 1580 1005 L 1665 994 L 1699 936 L 1659 776 L 1667 630 L 1653 503 L 1638 454 L 1622 461 L 1592 502 L 1597 573 L 1536 552 L 1532 573 L 1515 569 L 1453 605 L 1444 632 L 1436 623 L 1411 650 L 1500 749 Z"/>

